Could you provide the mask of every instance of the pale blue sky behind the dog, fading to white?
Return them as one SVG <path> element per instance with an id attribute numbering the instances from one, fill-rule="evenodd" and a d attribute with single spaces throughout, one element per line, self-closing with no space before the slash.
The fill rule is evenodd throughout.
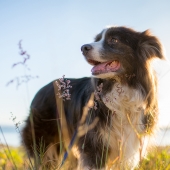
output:
<path id="1" fill-rule="evenodd" d="M 170 1 L 168 0 L 0 0 L 0 125 L 23 122 L 36 92 L 65 75 L 91 76 L 81 46 L 94 40 L 107 25 L 150 29 L 162 42 L 167 61 L 154 67 L 159 79 L 160 125 L 170 125 Z M 19 42 L 30 55 L 19 64 Z M 30 70 L 29 70 L 29 69 Z M 18 88 L 24 75 L 37 77 Z"/>

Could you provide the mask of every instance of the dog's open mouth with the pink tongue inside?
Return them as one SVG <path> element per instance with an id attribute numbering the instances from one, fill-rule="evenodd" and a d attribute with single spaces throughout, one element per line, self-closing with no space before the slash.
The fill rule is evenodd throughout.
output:
<path id="1" fill-rule="evenodd" d="M 93 75 L 108 73 L 108 72 L 116 72 L 120 68 L 120 62 L 117 60 L 100 63 L 98 61 L 90 60 L 88 61 L 90 64 L 94 65 L 91 72 Z"/>

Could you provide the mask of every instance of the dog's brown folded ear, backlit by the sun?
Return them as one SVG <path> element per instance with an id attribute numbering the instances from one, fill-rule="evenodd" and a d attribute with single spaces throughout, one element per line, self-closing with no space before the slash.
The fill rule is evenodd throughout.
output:
<path id="1" fill-rule="evenodd" d="M 151 35 L 149 30 L 141 33 L 137 53 L 144 59 L 158 57 L 165 59 L 162 45 L 157 37 Z"/>

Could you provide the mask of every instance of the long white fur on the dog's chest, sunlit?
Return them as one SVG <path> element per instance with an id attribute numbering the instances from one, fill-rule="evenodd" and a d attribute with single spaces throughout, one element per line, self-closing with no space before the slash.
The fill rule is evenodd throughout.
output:
<path id="1" fill-rule="evenodd" d="M 144 97 L 140 91 L 115 83 L 111 92 L 102 97 L 105 105 L 113 112 L 105 129 L 101 129 L 101 138 L 110 148 L 109 159 L 117 159 L 119 168 L 132 169 L 139 162 L 144 149 L 145 109 Z M 146 148 L 146 147 L 145 147 Z"/>

